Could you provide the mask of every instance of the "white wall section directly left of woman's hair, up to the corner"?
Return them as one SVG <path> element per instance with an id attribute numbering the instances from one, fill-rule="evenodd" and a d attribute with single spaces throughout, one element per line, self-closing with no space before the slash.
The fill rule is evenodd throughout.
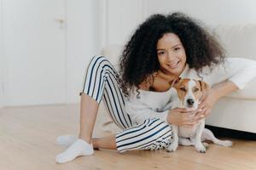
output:
<path id="1" fill-rule="evenodd" d="M 144 20 L 145 0 L 105 0 L 104 46 L 123 44 Z"/>

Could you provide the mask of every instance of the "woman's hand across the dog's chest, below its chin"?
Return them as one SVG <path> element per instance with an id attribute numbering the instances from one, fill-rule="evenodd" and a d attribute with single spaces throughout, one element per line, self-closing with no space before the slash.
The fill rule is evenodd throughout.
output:
<path id="1" fill-rule="evenodd" d="M 192 127 L 203 118 L 198 116 L 199 114 L 197 114 L 197 112 L 199 111 L 201 111 L 201 109 L 171 109 L 167 116 L 167 122 L 177 126 Z"/>

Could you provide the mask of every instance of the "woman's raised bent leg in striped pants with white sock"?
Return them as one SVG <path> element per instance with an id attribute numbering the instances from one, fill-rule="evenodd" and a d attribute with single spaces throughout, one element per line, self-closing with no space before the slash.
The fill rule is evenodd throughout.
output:
<path id="1" fill-rule="evenodd" d="M 72 161 L 77 156 L 93 154 L 91 136 L 102 97 L 113 122 L 121 128 L 131 127 L 131 118 L 125 112 L 125 99 L 119 88 L 117 72 L 108 59 L 96 56 L 90 61 L 81 92 L 79 139 L 56 156 L 57 162 Z"/>

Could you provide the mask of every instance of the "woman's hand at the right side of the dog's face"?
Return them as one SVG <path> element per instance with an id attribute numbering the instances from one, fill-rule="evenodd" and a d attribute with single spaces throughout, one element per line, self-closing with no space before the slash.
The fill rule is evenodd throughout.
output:
<path id="1" fill-rule="evenodd" d="M 199 109 L 201 109 L 200 112 L 198 112 L 197 114 L 201 117 L 206 117 L 208 116 L 211 111 L 213 106 L 215 105 L 215 103 L 218 100 L 218 95 L 215 92 L 214 88 L 209 89 L 206 93 L 204 93 L 201 96 L 201 99 L 199 99 Z"/>

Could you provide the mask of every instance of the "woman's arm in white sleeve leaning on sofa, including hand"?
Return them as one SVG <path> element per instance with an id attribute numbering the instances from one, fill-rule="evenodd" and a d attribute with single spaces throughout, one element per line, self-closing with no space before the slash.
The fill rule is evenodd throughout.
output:
<path id="1" fill-rule="evenodd" d="M 246 87 L 256 77 L 256 61 L 251 59 L 229 58 L 223 66 L 217 67 L 207 77 L 212 88 L 201 98 L 201 116 L 207 116 L 218 99 Z"/>

